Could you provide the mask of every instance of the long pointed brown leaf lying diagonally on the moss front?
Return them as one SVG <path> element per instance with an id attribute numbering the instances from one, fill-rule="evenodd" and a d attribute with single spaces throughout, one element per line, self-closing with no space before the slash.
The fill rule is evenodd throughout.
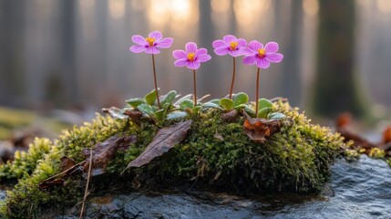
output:
<path id="1" fill-rule="evenodd" d="M 180 141 L 183 141 L 188 130 L 190 130 L 190 125 L 191 120 L 186 120 L 159 130 L 145 151 L 143 151 L 135 160 L 129 162 L 127 169 L 131 167 L 141 167 L 151 162 L 154 158 L 169 151 L 176 144 L 180 143 Z"/>

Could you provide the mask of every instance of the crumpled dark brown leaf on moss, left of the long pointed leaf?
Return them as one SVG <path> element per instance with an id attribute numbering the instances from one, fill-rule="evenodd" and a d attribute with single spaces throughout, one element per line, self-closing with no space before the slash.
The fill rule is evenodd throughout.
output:
<path id="1" fill-rule="evenodd" d="M 83 151 L 86 156 L 86 163 L 83 170 L 86 173 L 89 167 L 90 150 L 92 150 L 92 170 L 91 176 L 97 176 L 106 172 L 108 162 L 113 160 L 118 150 L 126 150 L 129 144 L 137 141 L 136 135 L 118 137 L 112 136 L 107 141 L 98 142 L 94 148 Z"/>

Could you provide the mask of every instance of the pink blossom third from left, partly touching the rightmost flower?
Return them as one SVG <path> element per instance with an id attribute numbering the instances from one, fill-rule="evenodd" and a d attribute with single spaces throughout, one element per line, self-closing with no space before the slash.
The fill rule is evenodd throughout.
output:
<path id="1" fill-rule="evenodd" d="M 245 39 L 236 38 L 232 35 L 224 36 L 221 39 L 213 41 L 214 53 L 218 56 L 230 54 L 232 57 L 239 57 L 244 54 L 247 42 Z"/>

